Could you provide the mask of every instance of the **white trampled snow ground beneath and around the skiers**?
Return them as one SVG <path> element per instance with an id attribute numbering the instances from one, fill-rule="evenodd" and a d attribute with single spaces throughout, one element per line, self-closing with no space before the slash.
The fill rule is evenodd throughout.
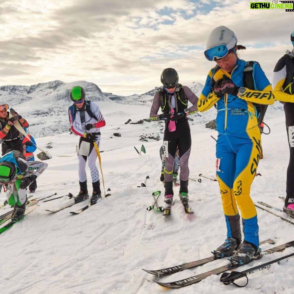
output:
<path id="1" fill-rule="evenodd" d="M 153 203 L 152 192 L 156 190 L 162 192 L 159 205 L 164 206 L 164 188 L 159 180 L 159 148 L 162 140 L 142 142 L 139 136 L 159 133 L 162 139 L 163 124 L 124 124 L 129 118 L 132 121 L 148 118 L 150 106 L 107 101 L 98 104 L 106 120 L 106 126 L 101 128 L 100 150 L 103 151 L 101 159 L 105 189 L 111 188 L 111 196 L 76 216 L 69 212 L 83 207 L 87 201 L 55 214 L 45 209 L 58 208 L 72 200 L 64 197 L 39 203 L 39 208 L 1 234 L 1 294 L 167 293 L 166 289 L 153 282 L 156 277 L 142 268 L 157 270 L 205 258 L 225 240 L 225 219 L 216 182 L 206 179 L 202 179 L 202 183 L 189 182 L 194 218 L 188 218 L 183 213 L 177 197 L 178 187 L 174 188 L 175 201 L 169 219 L 157 211 L 146 210 Z M 283 201 L 278 196 L 285 196 L 289 151 L 284 113 L 277 109 L 280 105 L 276 102 L 275 107 L 270 106 L 266 116 L 271 133 L 262 135 L 264 158 L 258 166 L 262 176 L 255 178 L 251 196 L 255 203 L 264 201 L 282 208 Z M 215 111 L 211 110 L 208 116 L 213 118 Z M 217 132 L 203 126 L 203 117 L 193 118 L 194 121 L 190 122 L 192 151 L 189 168 L 190 178 L 197 180 L 200 173 L 215 175 L 215 141 L 211 136 L 216 138 Z M 113 136 L 117 132 L 121 133 L 121 137 Z M 40 148 L 45 148 L 51 142 L 53 148 L 48 150 L 52 154 L 71 155 L 78 144 L 78 137 L 62 133 L 36 141 Z M 139 150 L 142 143 L 146 154 L 138 156 L 134 146 Z M 69 192 L 76 195 L 79 190 L 77 156 L 53 156 L 46 162 L 49 167 L 37 179 L 38 188 L 34 196 L 45 197 L 55 192 L 57 196 Z M 88 167 L 87 174 L 91 193 Z M 137 188 L 147 175 L 150 177 L 146 182 L 147 187 Z M 0 203 L 5 199 L 1 192 Z M 1 214 L 4 211 L 1 209 Z M 294 239 L 294 226 L 280 218 L 258 210 L 258 221 L 260 240 L 274 238 L 279 245 Z M 270 247 L 272 245 L 265 244 L 262 249 Z M 265 256 L 240 270 L 293 251 L 294 248 L 288 248 L 283 253 Z M 161 280 L 188 278 L 225 263 L 225 259 L 217 260 Z M 223 285 L 219 282 L 219 276 L 211 276 L 200 283 L 170 291 L 178 294 L 292 294 L 293 266 L 294 258 L 282 265 L 275 264 L 262 273 L 249 275 L 249 283 L 242 289 Z"/>

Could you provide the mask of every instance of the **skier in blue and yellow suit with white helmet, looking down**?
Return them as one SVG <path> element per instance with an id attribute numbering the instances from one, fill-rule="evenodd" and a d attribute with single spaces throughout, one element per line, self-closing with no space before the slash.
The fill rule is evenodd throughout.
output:
<path id="1" fill-rule="evenodd" d="M 258 113 L 253 103 L 273 104 L 272 87 L 258 63 L 253 65 L 256 90 L 244 87 L 246 62 L 238 58 L 237 37 L 225 26 L 214 29 L 207 41 L 205 56 L 217 66 L 208 74 L 198 101 L 198 110 L 217 104 L 217 178 L 227 225 L 227 239 L 214 253 L 230 256 L 234 263 L 249 261 L 259 254 L 257 213 L 250 198 L 260 158 Z M 240 216 L 244 241 L 241 243 Z"/>

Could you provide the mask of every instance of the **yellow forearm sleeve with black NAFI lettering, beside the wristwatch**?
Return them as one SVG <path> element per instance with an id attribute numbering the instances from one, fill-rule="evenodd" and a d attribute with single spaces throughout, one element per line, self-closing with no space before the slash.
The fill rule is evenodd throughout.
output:
<path id="1" fill-rule="evenodd" d="M 245 93 L 241 96 L 238 94 L 238 97 L 254 103 L 259 104 L 273 104 L 275 102 L 275 96 L 273 95 L 273 88 L 271 85 L 266 86 L 262 91 L 250 90 L 246 88 Z"/>

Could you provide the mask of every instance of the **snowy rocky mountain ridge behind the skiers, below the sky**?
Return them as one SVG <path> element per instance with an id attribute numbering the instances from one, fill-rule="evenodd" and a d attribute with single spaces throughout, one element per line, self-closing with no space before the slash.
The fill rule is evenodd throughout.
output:
<path id="1" fill-rule="evenodd" d="M 64 83 L 56 80 L 32 86 L 1 86 L 0 100 L 8 103 L 11 108 L 14 108 L 29 122 L 29 132 L 35 138 L 54 136 L 68 132 L 70 129 L 68 119 L 68 107 L 71 105 L 70 89 L 77 85 L 85 89 L 86 99 L 97 102 L 106 124 L 111 124 L 114 121 L 114 115 L 120 117 L 119 124 L 113 126 L 114 129 L 124 128 L 124 123 L 128 119 L 134 122 L 149 118 L 150 106 L 157 91 L 154 88 L 143 94 L 119 96 L 112 93 L 103 93 L 96 84 L 87 81 Z M 203 85 L 198 82 L 193 82 L 188 87 L 198 97 L 203 89 Z M 109 107 L 111 105 L 112 107 Z M 134 107 L 136 111 L 129 111 L 130 108 Z M 282 104 L 276 103 L 268 109 L 268 113 L 276 110 L 281 111 Z M 134 113 L 136 113 L 135 116 Z M 214 108 L 212 111 L 205 113 L 196 113 L 191 117 L 194 119 L 191 124 L 204 125 L 215 116 L 216 110 Z M 163 133 L 161 124 L 156 124 L 156 126 L 160 126 L 157 133 L 150 133 L 148 131 L 149 124 L 144 123 L 139 127 L 141 133 L 138 134 L 137 139 L 141 135 L 145 138 L 161 138 Z"/>

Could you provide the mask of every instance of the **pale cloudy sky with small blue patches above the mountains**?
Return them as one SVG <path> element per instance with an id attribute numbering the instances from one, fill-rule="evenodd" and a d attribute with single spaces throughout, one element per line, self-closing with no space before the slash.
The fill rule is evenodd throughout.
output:
<path id="1" fill-rule="evenodd" d="M 250 9 L 250 0 L 0 0 L 0 86 L 86 80 L 103 92 L 144 93 L 173 67 L 180 82 L 204 83 L 207 37 L 232 29 L 245 60 L 271 81 L 292 50 L 294 11 Z"/>

